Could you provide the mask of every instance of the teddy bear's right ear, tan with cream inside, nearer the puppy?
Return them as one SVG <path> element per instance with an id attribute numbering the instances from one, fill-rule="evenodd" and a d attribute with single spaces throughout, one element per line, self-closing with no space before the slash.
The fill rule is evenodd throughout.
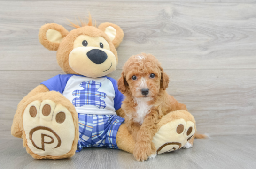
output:
<path id="1" fill-rule="evenodd" d="M 113 23 L 101 23 L 98 28 L 107 34 L 115 48 L 123 41 L 124 32 L 119 26 Z"/>

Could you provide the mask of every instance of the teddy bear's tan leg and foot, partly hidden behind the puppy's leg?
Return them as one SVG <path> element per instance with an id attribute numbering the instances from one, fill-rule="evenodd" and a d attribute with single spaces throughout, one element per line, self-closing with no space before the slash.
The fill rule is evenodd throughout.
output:
<path id="1" fill-rule="evenodd" d="M 189 112 L 177 110 L 168 113 L 157 123 L 157 132 L 152 140 L 156 152 L 151 154 L 149 158 L 154 158 L 156 154 L 163 154 L 184 147 L 188 141 L 194 138 L 195 131 L 195 120 Z M 120 149 L 133 153 L 135 142 L 126 124 L 120 126 L 116 143 Z"/>

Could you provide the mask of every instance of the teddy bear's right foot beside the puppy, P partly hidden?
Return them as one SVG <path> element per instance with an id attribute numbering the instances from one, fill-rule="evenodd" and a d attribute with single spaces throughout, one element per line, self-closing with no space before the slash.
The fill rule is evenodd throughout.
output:
<path id="1" fill-rule="evenodd" d="M 152 142 L 156 154 L 178 150 L 188 144 L 192 147 L 196 131 L 194 117 L 186 110 L 176 110 L 163 116 L 157 124 Z M 190 148 L 187 147 L 187 148 Z"/>

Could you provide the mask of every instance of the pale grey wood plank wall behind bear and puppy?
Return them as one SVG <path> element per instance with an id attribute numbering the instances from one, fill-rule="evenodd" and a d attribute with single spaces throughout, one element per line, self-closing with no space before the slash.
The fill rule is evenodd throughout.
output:
<path id="1" fill-rule="evenodd" d="M 57 74 L 56 51 L 39 28 L 91 13 L 98 25 L 124 30 L 124 62 L 152 53 L 170 76 L 168 93 L 185 103 L 197 129 L 211 136 L 256 135 L 256 0 L 75 1 L 0 0 L 0 137 L 10 134 L 19 101 Z"/>

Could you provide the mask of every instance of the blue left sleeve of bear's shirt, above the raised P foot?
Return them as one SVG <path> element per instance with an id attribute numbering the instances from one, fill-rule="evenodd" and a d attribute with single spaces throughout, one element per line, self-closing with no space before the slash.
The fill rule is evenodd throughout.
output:
<path id="1" fill-rule="evenodd" d="M 48 79 L 47 81 L 44 81 L 40 84 L 45 85 L 50 91 L 57 91 L 61 94 L 63 93 L 66 84 L 70 77 L 72 77 L 73 74 L 59 74 L 57 76 L 52 77 L 51 79 Z"/>

